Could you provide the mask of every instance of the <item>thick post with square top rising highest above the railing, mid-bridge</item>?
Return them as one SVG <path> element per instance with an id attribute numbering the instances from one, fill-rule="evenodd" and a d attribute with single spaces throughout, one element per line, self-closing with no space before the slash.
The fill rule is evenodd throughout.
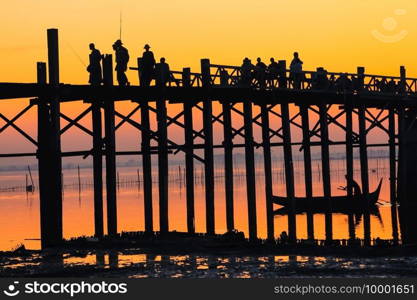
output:
<path id="1" fill-rule="evenodd" d="M 201 75 L 203 87 L 211 86 L 210 60 L 201 60 Z M 207 234 L 215 233 L 214 216 L 214 158 L 213 158 L 213 123 L 212 101 L 203 99 L 203 129 L 204 129 L 204 179 L 206 193 L 206 231 Z"/>

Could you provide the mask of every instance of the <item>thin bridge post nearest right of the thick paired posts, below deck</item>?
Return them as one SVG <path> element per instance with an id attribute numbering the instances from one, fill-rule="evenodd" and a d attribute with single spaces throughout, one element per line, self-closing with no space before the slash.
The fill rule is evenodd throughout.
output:
<path id="1" fill-rule="evenodd" d="M 93 99 L 93 181 L 94 181 L 94 232 L 98 238 L 103 237 L 103 158 L 101 101 Z"/>

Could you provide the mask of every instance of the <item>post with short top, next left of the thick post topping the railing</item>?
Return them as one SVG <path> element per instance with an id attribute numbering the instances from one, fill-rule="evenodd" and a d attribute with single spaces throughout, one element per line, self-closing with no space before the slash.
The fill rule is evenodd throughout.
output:
<path id="1" fill-rule="evenodd" d="M 190 68 L 182 71 L 183 87 L 190 87 Z M 195 233 L 194 214 L 194 138 L 193 138 L 193 103 L 184 102 L 184 135 L 185 135 L 185 183 L 187 189 L 187 230 Z"/>

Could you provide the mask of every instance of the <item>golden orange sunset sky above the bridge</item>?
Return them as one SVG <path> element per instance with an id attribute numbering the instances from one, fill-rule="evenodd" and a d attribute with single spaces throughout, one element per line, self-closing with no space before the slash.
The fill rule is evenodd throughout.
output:
<path id="1" fill-rule="evenodd" d="M 232 65 L 245 56 L 290 60 L 296 50 L 308 70 L 365 66 L 367 73 L 396 75 L 405 65 L 417 76 L 417 1 L 19 0 L 0 11 L 0 82 L 35 81 L 36 61 L 46 60 L 46 29 L 54 27 L 60 30 L 62 82 L 86 83 L 77 56 L 87 62 L 89 42 L 111 53 L 120 12 L 132 65 L 149 43 L 176 70 L 199 71 L 201 58 Z M 128 76 L 137 83 L 135 72 Z M 17 106 L 2 104 L 1 110 L 11 117 Z M 24 127 L 33 129 L 33 122 Z"/>

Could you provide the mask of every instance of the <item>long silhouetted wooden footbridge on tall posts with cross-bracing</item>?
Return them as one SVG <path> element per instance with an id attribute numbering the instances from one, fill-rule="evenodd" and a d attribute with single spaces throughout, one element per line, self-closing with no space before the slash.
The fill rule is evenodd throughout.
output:
<path id="1" fill-rule="evenodd" d="M 214 149 L 224 152 L 225 198 L 227 230 L 235 229 L 233 199 L 233 151 L 243 148 L 245 153 L 246 189 L 248 204 L 249 239 L 256 240 L 256 184 L 255 149 L 262 149 L 264 159 L 265 195 L 267 211 L 268 240 L 273 241 L 274 207 L 271 149 L 281 147 L 284 154 L 286 196 L 289 199 L 288 233 L 289 240 L 295 241 L 296 218 L 294 201 L 293 146 L 299 146 L 304 155 L 305 193 L 312 197 L 313 147 L 320 148 L 322 164 L 322 183 L 324 197 L 328 199 L 325 212 L 326 240 L 333 239 L 330 146 L 344 145 L 346 150 L 347 180 L 353 179 L 353 152 L 359 148 L 361 183 L 366 197 L 369 191 L 367 149 L 386 146 L 390 156 L 390 201 L 392 203 L 393 238 L 398 242 L 397 203 L 401 203 L 400 224 L 403 243 L 415 242 L 417 230 L 413 214 L 417 212 L 417 79 L 408 78 L 406 69 L 400 68 L 400 76 L 368 75 L 359 67 L 357 73 L 329 73 L 322 68 L 303 72 L 300 80 L 294 80 L 286 68 L 285 61 L 279 62 L 281 71 L 275 76 L 251 78 L 242 82 L 240 67 L 212 64 L 208 59 L 201 60 L 201 72 L 191 72 L 189 68 L 171 71 L 171 80 L 167 84 L 155 86 L 114 86 L 112 55 L 103 59 L 104 83 L 101 86 L 62 84 L 59 79 L 58 31 L 48 30 L 48 76 L 47 65 L 37 63 L 37 83 L 0 83 L 0 99 L 28 99 L 27 106 L 15 117 L 7 118 L 0 113 L 5 125 L 0 133 L 12 127 L 24 138 L 35 145 L 36 153 L 2 153 L 0 157 L 36 156 L 39 162 L 39 187 L 41 207 L 42 247 L 58 245 L 62 240 L 62 157 L 93 157 L 94 169 L 94 220 L 95 235 L 104 235 L 103 226 L 103 165 L 106 159 L 106 201 L 109 236 L 116 236 L 117 198 L 116 198 L 116 156 L 137 155 L 142 157 L 142 178 L 144 181 L 144 220 L 145 231 L 154 231 L 152 218 L 152 156 L 158 157 L 159 187 L 159 228 L 161 233 L 169 232 L 168 226 L 168 160 L 170 155 L 183 152 L 186 167 L 186 205 L 187 228 L 195 232 L 194 226 L 194 162 L 204 164 L 206 233 L 215 233 L 215 197 L 214 197 Z M 139 62 L 138 62 L 139 65 Z M 132 68 L 138 70 L 138 68 Z M 140 81 L 140 70 L 138 70 Z M 49 80 L 47 80 L 47 77 Z M 27 100 L 20 100 L 27 101 Z M 61 111 L 60 104 L 71 101 L 83 101 L 88 104 L 76 118 L 70 118 Z M 129 114 L 115 109 L 117 101 L 131 101 L 136 107 Z M 213 103 L 221 104 L 220 114 L 213 113 Z M 169 116 L 167 106 L 172 103 L 183 105 L 183 110 L 175 116 Z M 289 109 L 296 105 L 298 110 Z M 1 101 L 0 101 L 1 105 Z M 238 108 L 239 106 L 239 108 Z M 240 108 L 242 107 L 242 108 Z M 259 114 L 253 113 L 253 108 Z M 337 112 L 332 112 L 335 107 Z M 16 125 L 30 109 L 37 109 L 38 136 L 32 137 Z M 140 120 L 132 116 L 140 111 Z M 91 114 L 92 129 L 80 120 Z M 156 115 L 157 129 L 152 130 L 150 117 Z M 243 126 L 233 126 L 234 116 L 243 119 Z M 116 124 L 116 117 L 120 121 Z M 195 118 L 202 118 L 201 130 L 193 127 Z M 271 124 L 271 117 L 279 118 L 278 129 Z M 102 136 L 102 118 L 104 118 L 104 136 Z M 316 119 L 314 126 L 311 120 Z M 61 126 L 60 120 L 68 125 Z M 271 119 L 271 120 L 270 120 Z M 354 120 L 358 120 L 355 131 Z M 214 143 L 213 124 L 223 128 L 223 142 Z M 130 124 L 141 132 L 141 147 L 138 151 L 116 151 L 116 131 L 124 124 Z M 178 143 L 168 134 L 169 126 L 179 126 L 184 130 L 184 143 Z M 77 127 L 92 137 L 93 148 L 84 151 L 62 151 L 61 135 L 72 127 Z M 254 127 L 259 126 L 262 135 L 254 135 Z M 343 140 L 329 138 L 329 126 L 335 126 L 345 132 Z M 292 141 L 293 128 L 302 130 L 302 141 Z M 373 129 L 379 128 L 386 133 L 387 142 L 371 144 L 367 136 Z M 236 139 L 243 143 L 236 143 Z M 198 142 L 197 142 L 198 141 Z M 204 155 L 200 155 L 203 150 Z M 397 157 L 398 162 L 397 162 Z M 351 187 L 347 194 L 353 197 Z M 403 211 L 403 212 L 401 212 Z M 349 235 L 355 238 L 353 214 L 349 215 Z M 371 241 L 370 215 L 364 211 L 365 244 Z M 404 225 L 403 225 L 404 224 Z M 314 239 L 312 211 L 307 212 L 308 238 Z"/>

